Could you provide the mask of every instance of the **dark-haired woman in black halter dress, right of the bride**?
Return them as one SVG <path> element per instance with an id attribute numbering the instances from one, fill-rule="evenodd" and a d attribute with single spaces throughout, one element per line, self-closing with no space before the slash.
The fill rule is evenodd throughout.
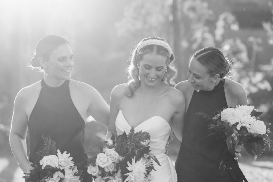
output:
<path id="1" fill-rule="evenodd" d="M 178 182 L 231 182 L 234 177 L 238 181 L 244 177 L 235 175 L 235 169 L 219 169 L 221 157 L 227 151 L 226 143 L 208 136 L 211 130 L 207 125 L 211 123 L 195 114 L 203 111 L 213 115 L 224 107 L 235 107 L 238 102 L 248 104 L 243 86 L 226 78 L 230 69 L 230 61 L 220 50 L 206 47 L 192 56 L 188 81 L 176 85 L 186 100 L 183 138 L 175 164 Z"/>

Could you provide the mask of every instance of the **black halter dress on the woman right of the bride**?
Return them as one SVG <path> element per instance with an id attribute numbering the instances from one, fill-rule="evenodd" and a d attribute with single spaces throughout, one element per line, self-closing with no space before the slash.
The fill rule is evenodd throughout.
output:
<path id="1" fill-rule="evenodd" d="M 185 114 L 183 138 L 175 168 L 178 182 L 231 182 L 228 172 L 219 164 L 224 150 L 225 141 L 217 141 L 215 135 L 208 136 L 212 131 L 208 125 L 212 121 L 197 115 L 197 112 L 214 115 L 227 102 L 224 92 L 225 80 L 221 80 L 211 91 L 193 92 L 188 110 Z"/>

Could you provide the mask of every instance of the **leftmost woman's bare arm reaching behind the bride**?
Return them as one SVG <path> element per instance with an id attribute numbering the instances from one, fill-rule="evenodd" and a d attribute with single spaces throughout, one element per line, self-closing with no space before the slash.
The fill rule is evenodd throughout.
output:
<path id="1" fill-rule="evenodd" d="M 95 118 L 96 121 L 100 122 L 104 127 L 107 128 L 109 123 L 109 106 L 104 101 L 99 92 L 95 88 L 91 88 L 91 99 L 87 112 L 93 118 Z"/>

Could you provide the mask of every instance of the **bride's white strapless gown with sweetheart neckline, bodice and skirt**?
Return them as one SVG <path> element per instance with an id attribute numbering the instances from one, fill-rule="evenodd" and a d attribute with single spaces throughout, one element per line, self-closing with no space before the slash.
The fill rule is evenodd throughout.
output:
<path id="1" fill-rule="evenodd" d="M 118 135 L 124 131 L 128 134 L 130 132 L 130 125 L 124 118 L 121 110 L 118 111 L 115 120 L 115 126 Z M 174 169 L 174 164 L 168 155 L 165 154 L 165 146 L 171 133 L 171 126 L 160 116 L 153 116 L 134 128 L 135 132 L 143 131 L 150 133 L 150 150 L 154 151 L 155 156 L 160 162 L 160 165 L 154 162 L 156 171 L 151 171 L 151 182 L 176 182 L 177 175 Z"/>

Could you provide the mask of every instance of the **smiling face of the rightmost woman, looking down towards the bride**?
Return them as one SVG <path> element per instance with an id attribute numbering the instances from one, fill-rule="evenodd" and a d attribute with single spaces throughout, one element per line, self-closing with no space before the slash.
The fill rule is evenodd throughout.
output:
<path id="1" fill-rule="evenodd" d="M 214 84 L 212 84 L 214 79 L 210 74 L 208 74 L 207 68 L 200 64 L 194 57 L 190 60 L 189 71 L 188 71 L 188 82 L 192 84 L 194 90 L 213 90 Z"/>

